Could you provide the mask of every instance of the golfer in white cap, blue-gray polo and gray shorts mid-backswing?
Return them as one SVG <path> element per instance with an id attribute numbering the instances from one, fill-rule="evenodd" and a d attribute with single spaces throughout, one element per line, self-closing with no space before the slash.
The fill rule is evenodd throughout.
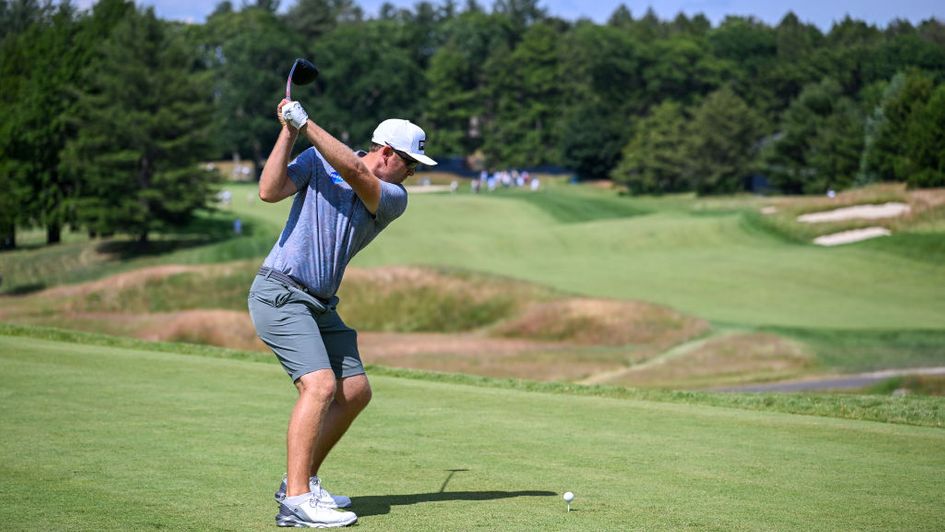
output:
<path id="1" fill-rule="evenodd" d="M 371 400 L 357 333 L 338 315 L 345 267 L 407 208 L 401 183 L 423 153 L 426 134 L 407 120 L 374 130 L 370 153 L 355 153 L 308 119 L 298 102 L 277 108 L 282 131 L 259 180 L 259 197 L 295 196 L 282 234 L 249 291 L 256 334 L 298 389 L 286 435 L 287 474 L 276 492 L 279 526 L 333 527 L 357 516 L 351 499 L 329 494 L 319 468 Z M 291 163 L 302 132 L 312 147 Z"/>

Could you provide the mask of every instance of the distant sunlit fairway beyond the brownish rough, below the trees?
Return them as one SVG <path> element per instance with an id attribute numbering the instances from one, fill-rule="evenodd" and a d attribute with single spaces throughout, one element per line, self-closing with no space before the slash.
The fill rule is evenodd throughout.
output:
<path id="1" fill-rule="evenodd" d="M 540 194 L 548 199 L 413 194 L 404 217 L 354 264 L 463 267 L 752 326 L 937 329 L 945 322 L 945 264 L 889 252 L 894 246 L 792 243 L 736 208 L 695 210 L 676 198 L 564 187 Z M 556 216 L 568 201 L 580 207 Z M 289 202 L 234 208 L 268 221 L 275 239 Z"/>

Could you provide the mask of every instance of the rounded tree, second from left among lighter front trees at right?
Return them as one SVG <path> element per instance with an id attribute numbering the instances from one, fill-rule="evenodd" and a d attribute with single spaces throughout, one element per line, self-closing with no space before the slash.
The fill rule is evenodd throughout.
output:
<path id="1" fill-rule="evenodd" d="M 732 89 L 710 94 L 693 112 L 685 150 L 696 192 L 745 190 L 762 127 L 762 118 Z"/>

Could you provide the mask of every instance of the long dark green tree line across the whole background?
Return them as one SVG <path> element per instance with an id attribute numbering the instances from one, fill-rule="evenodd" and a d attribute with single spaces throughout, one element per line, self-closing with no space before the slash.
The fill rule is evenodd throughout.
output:
<path id="1" fill-rule="evenodd" d="M 0 244 L 64 227 L 146 240 L 213 190 L 198 162 L 259 164 L 293 92 L 353 147 L 383 118 L 430 133 L 434 157 L 563 166 L 635 193 L 821 193 L 875 181 L 945 185 L 945 25 L 845 18 L 823 32 L 624 6 L 569 21 L 537 0 L 462 6 L 354 0 L 219 3 L 202 24 L 125 0 L 0 0 Z"/>

